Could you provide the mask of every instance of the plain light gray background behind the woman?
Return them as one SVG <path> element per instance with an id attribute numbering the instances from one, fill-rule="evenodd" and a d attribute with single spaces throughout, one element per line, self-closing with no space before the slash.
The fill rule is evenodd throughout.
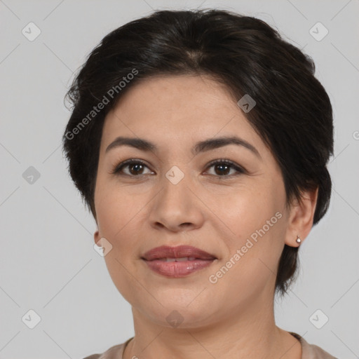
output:
<path id="1" fill-rule="evenodd" d="M 316 62 L 334 108 L 332 202 L 300 248 L 299 278 L 276 301 L 276 320 L 333 355 L 358 358 L 358 0 L 0 1 L 0 358 L 83 358 L 133 336 L 130 304 L 93 249 L 95 221 L 62 157 L 63 97 L 112 29 L 152 9 L 198 6 L 265 20 Z M 22 34 L 29 22 L 41 29 L 34 41 Z M 309 32 L 317 22 L 329 30 L 321 41 Z M 32 183 L 30 166 L 40 175 Z M 22 321 L 30 309 L 41 317 L 34 329 Z M 310 320 L 318 309 L 329 318 L 320 329 Z"/>

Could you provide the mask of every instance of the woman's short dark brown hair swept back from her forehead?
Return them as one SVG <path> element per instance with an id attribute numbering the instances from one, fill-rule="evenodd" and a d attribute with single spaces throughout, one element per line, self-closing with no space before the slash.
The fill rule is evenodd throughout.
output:
<path id="1" fill-rule="evenodd" d="M 104 36 L 66 94 L 72 115 L 62 137 L 69 173 L 96 219 L 94 191 L 104 118 L 139 81 L 156 76 L 206 75 L 224 83 L 236 102 L 255 100 L 245 112 L 280 166 L 287 196 L 318 189 L 313 224 L 325 215 L 332 182 L 332 106 L 308 55 L 257 18 L 202 9 L 155 11 Z M 102 104 L 102 105 L 101 105 Z M 238 107 L 238 111 L 241 109 Z M 294 280 L 298 247 L 285 245 L 275 290 Z"/>

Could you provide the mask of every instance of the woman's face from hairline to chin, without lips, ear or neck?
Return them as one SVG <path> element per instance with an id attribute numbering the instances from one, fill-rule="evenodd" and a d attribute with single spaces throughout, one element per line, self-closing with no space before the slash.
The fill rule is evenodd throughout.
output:
<path id="1" fill-rule="evenodd" d="M 107 151 L 117 137 L 143 139 L 156 149 L 118 145 Z M 238 137 L 250 146 L 196 147 L 219 137 Z M 143 165 L 112 173 L 131 158 Z M 273 299 L 285 243 L 295 245 L 278 164 L 225 88 L 207 77 L 137 83 L 109 112 L 95 210 L 95 242 L 106 238 L 112 245 L 104 259 L 118 291 L 137 313 L 168 327 L 176 316 L 182 327 L 236 313 L 258 316 Z M 191 245 L 217 259 L 169 277 L 142 259 L 161 245 Z"/>

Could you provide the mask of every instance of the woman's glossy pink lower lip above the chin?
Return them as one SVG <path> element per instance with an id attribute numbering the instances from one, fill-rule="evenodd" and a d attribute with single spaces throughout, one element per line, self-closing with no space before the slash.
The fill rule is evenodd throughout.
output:
<path id="1" fill-rule="evenodd" d="M 181 278 L 210 266 L 214 261 L 215 259 L 195 259 L 194 261 L 186 262 L 164 262 L 155 259 L 153 261 L 145 260 L 144 262 L 147 263 L 147 266 L 149 266 L 152 271 L 155 271 L 158 274 L 170 278 Z"/>

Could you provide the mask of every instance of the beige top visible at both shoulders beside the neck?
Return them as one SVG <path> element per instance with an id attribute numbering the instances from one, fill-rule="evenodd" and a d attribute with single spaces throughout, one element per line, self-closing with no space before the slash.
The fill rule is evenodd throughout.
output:
<path id="1" fill-rule="evenodd" d="M 323 351 L 323 349 L 319 348 L 319 346 L 309 344 L 299 334 L 294 332 L 289 333 L 296 337 L 302 344 L 302 359 L 338 359 L 333 355 L 330 355 L 330 353 Z M 111 346 L 111 348 L 107 349 L 107 351 L 102 354 L 93 354 L 86 356 L 86 358 L 83 359 L 123 359 L 123 351 L 131 339 L 133 339 L 133 337 L 125 341 L 123 344 Z"/>

